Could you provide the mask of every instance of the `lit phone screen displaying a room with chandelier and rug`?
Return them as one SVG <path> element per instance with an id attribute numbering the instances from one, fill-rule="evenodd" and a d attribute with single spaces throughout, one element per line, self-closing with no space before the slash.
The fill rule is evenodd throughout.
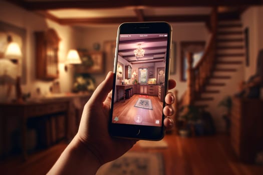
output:
<path id="1" fill-rule="evenodd" d="M 120 35 L 113 123 L 161 126 L 166 47 L 167 33 Z"/>

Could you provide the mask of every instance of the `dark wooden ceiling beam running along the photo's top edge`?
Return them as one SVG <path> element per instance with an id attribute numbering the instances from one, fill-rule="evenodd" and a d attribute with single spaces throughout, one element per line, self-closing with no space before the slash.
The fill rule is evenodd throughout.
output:
<path id="1" fill-rule="evenodd" d="M 49 10 L 61 8 L 123 8 L 123 7 L 182 7 L 182 6 L 238 6 L 260 5 L 262 0 L 54 0 L 31 1 L 9 0 L 29 10 Z"/>

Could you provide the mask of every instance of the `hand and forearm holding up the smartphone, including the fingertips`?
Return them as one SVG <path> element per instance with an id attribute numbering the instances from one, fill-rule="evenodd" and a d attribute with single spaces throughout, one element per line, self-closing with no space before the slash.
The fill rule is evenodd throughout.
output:
<path id="1" fill-rule="evenodd" d="M 95 174 L 102 164 L 118 158 L 136 143 L 137 140 L 113 138 L 108 133 L 112 83 L 113 72 L 109 72 L 85 104 L 78 133 L 48 174 Z M 175 85 L 174 80 L 169 80 L 169 89 Z M 174 99 L 171 92 L 166 94 L 165 116 L 173 114 Z M 165 118 L 164 125 L 171 128 L 172 119 Z"/>

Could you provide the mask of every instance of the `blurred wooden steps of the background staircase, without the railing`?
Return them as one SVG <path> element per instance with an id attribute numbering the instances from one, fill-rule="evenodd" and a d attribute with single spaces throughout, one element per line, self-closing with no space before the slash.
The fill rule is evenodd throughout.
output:
<path id="1" fill-rule="evenodd" d="M 216 32 L 216 54 L 211 76 L 203 86 L 200 96 L 194 104 L 208 107 L 222 87 L 227 85 L 243 63 L 244 42 L 242 25 L 239 20 L 218 21 Z M 234 93 L 234 92 L 233 92 Z M 200 102 L 201 101 L 201 102 Z"/>

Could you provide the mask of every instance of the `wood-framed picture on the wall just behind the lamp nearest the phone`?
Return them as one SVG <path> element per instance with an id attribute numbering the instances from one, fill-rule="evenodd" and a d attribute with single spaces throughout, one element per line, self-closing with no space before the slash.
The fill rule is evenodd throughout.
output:
<path id="1" fill-rule="evenodd" d="M 104 54 L 102 51 L 79 51 L 82 64 L 76 65 L 77 73 L 104 73 Z"/>

